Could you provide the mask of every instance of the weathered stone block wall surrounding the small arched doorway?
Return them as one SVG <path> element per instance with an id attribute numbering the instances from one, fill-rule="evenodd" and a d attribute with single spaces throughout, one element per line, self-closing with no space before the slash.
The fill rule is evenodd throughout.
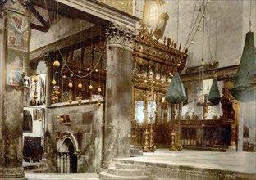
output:
<path id="1" fill-rule="evenodd" d="M 65 134 L 71 137 L 77 154 L 77 173 L 97 172 L 101 167 L 103 150 L 103 110 L 104 105 L 93 101 L 83 101 L 82 105 L 73 102 L 53 104 L 48 107 L 48 168 L 57 172 L 57 154 L 62 151 L 60 143 Z M 58 115 L 69 115 L 71 124 L 57 119 Z M 59 138 L 57 138 L 57 136 Z M 63 139 L 62 139 L 63 138 Z"/>

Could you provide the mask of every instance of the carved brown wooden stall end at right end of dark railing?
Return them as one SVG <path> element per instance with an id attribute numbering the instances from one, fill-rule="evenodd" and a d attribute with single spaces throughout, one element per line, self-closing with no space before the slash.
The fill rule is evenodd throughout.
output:
<path id="1" fill-rule="evenodd" d="M 240 114 L 240 103 L 235 100 L 235 97 L 231 95 L 229 91 L 230 88 L 233 87 L 233 83 L 228 80 L 224 84 L 224 88 L 222 89 L 222 127 L 229 127 L 230 129 L 230 145 L 236 146 L 238 142 L 238 122 L 239 122 L 239 114 Z"/>

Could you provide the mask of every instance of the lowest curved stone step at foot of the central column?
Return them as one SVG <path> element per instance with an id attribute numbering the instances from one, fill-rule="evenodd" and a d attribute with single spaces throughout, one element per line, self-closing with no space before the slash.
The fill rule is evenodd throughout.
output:
<path id="1" fill-rule="evenodd" d="M 149 176 L 118 176 L 114 174 L 109 174 L 106 171 L 99 173 L 100 180 L 149 180 Z"/>

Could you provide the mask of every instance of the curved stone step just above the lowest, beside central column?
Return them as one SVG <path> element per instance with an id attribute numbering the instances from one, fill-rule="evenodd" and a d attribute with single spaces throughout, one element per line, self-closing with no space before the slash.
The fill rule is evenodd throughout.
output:
<path id="1" fill-rule="evenodd" d="M 117 176 L 142 176 L 143 171 L 140 169 L 118 169 L 118 168 L 109 168 L 107 173 L 117 175 Z"/>

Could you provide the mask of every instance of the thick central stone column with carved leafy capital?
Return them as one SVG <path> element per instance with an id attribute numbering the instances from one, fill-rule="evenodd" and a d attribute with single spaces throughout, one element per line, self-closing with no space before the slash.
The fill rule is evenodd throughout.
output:
<path id="1" fill-rule="evenodd" d="M 130 29 L 107 29 L 107 82 L 103 167 L 117 157 L 130 157 L 133 39 Z"/>

